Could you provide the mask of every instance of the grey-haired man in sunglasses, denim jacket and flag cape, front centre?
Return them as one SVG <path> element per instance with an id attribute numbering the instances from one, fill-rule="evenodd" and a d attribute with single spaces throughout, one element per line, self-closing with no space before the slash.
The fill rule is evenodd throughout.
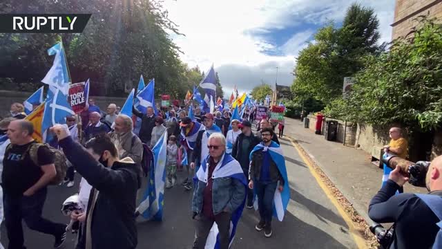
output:
<path id="1" fill-rule="evenodd" d="M 222 133 L 211 134 L 207 147 L 209 156 L 193 178 L 193 248 L 227 249 L 244 209 L 247 182 L 240 163 L 225 153 L 226 138 Z"/>

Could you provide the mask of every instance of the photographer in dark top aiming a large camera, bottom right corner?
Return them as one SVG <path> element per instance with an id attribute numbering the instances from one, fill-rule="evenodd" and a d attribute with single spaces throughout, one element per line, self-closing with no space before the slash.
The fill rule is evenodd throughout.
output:
<path id="1" fill-rule="evenodd" d="M 416 163 L 417 166 L 422 164 L 425 162 Z M 391 239 L 380 242 L 383 248 L 442 248 L 442 230 L 437 224 L 442 219 L 442 156 L 434 158 L 427 168 L 425 185 L 430 193 L 396 194 L 409 181 L 410 169 L 416 169 L 416 165 L 403 167 L 390 160 L 390 167 L 394 166 L 394 170 L 369 204 L 370 219 L 378 223 L 394 223 L 390 230 Z M 416 174 L 411 172 L 411 175 Z M 442 227 L 442 223 L 439 225 Z M 372 227 L 372 231 L 378 227 Z"/>

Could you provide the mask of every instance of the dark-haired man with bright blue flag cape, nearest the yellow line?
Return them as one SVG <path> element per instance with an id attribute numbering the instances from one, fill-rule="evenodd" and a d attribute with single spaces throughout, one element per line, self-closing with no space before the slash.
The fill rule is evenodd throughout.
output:
<path id="1" fill-rule="evenodd" d="M 261 129 L 262 142 L 250 153 L 249 187 L 258 197 L 260 222 L 255 229 L 264 229 L 265 237 L 271 237 L 271 216 L 279 221 L 284 218 L 290 200 L 289 179 L 280 145 L 271 140 L 273 129 Z"/>

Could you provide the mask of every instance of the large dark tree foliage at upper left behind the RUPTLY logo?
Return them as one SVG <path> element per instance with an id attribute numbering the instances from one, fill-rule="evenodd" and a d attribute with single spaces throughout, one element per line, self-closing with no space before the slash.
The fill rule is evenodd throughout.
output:
<path id="1" fill-rule="evenodd" d="M 53 60 L 46 50 L 59 40 L 64 43 L 73 82 L 90 78 L 94 95 L 126 95 L 125 85 L 136 87 L 140 75 L 146 81 L 155 78 L 158 95 L 168 93 L 175 98 L 183 98 L 199 83 L 194 68 L 179 58 L 180 48 L 169 33 L 181 34 L 160 0 L 6 0 L 0 9 L 92 14 L 81 34 L 0 34 L 0 77 L 16 82 L 20 90 L 39 86 Z"/>

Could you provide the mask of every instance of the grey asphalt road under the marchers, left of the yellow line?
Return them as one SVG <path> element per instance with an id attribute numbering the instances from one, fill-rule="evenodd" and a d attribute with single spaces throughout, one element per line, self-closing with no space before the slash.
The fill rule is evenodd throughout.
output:
<path id="1" fill-rule="evenodd" d="M 357 248 L 347 223 L 320 188 L 291 142 L 281 140 L 281 145 L 291 187 L 291 201 L 284 221 L 273 220 L 273 236 L 266 238 L 263 231 L 257 232 L 254 228 L 258 222 L 258 212 L 244 210 L 233 248 Z M 178 172 L 178 175 L 184 177 L 183 172 Z M 44 217 L 67 223 L 68 217 L 60 212 L 61 203 L 70 194 L 74 194 L 77 188 L 77 185 L 72 188 L 50 187 Z M 194 234 L 190 211 L 191 194 L 184 191 L 181 185 L 166 190 L 164 220 L 138 223 L 137 248 L 191 248 Z M 50 235 L 29 230 L 24 224 L 23 230 L 27 248 L 52 248 L 54 241 Z M 1 227 L 1 243 L 3 246 L 8 245 L 4 225 Z M 65 248 L 73 248 L 74 244 L 75 236 L 68 234 Z"/>

